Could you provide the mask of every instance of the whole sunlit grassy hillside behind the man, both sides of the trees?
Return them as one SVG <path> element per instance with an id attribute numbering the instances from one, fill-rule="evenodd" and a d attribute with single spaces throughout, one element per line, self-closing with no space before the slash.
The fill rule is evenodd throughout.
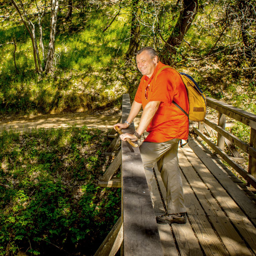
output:
<path id="1" fill-rule="evenodd" d="M 219 30 L 212 26 L 213 18 L 208 17 L 211 11 L 209 6 L 204 8 L 204 12 L 198 13 L 185 37 L 200 52 L 193 51 L 183 43 L 176 57 L 177 68 L 196 78 L 209 96 L 256 113 L 255 73 L 238 67 L 235 56 L 230 52 L 201 61 L 183 62 L 179 57 L 181 53 L 196 58 L 198 53 L 204 55 L 210 51 Z M 59 16 L 54 78 L 34 74 L 31 43 L 15 15 L 3 22 L 0 30 L 0 44 L 3 44 L 0 54 L 4 56 L 0 63 L 2 114 L 92 110 L 116 104 L 123 93 L 129 92 L 133 96 L 140 74 L 134 67 L 134 62 L 127 63 L 123 59 L 129 43 L 129 40 L 125 40 L 129 37 L 129 23 L 126 23 L 129 21 L 129 12 L 122 9 L 118 18 L 102 33 L 107 22 L 112 19 L 107 21 L 107 17 L 114 12 L 115 5 L 91 9 L 85 14 L 74 10 L 69 22 Z M 177 19 L 178 16 L 175 17 Z M 174 22 L 175 19 L 171 23 Z M 48 27 L 47 19 L 44 27 Z M 45 29 L 45 46 L 47 33 L 48 30 Z M 229 31 L 217 46 L 234 44 L 237 39 L 232 33 Z M 15 57 L 19 74 L 16 74 L 13 61 L 14 45 L 6 44 L 13 41 L 13 37 L 17 42 Z M 145 37 L 141 39 L 145 40 Z M 148 43 L 151 44 L 150 41 Z"/>

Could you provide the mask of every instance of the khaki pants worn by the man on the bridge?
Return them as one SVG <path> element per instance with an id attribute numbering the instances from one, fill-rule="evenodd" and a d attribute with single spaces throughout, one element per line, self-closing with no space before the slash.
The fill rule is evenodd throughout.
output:
<path id="1" fill-rule="evenodd" d="M 155 179 L 153 167 L 158 170 L 167 191 L 167 213 L 186 212 L 182 177 L 178 167 L 178 141 L 173 139 L 162 143 L 143 142 L 140 146 L 141 158 L 147 172 L 148 187 L 152 196 L 152 182 Z M 150 178 L 148 178 L 150 177 Z"/>

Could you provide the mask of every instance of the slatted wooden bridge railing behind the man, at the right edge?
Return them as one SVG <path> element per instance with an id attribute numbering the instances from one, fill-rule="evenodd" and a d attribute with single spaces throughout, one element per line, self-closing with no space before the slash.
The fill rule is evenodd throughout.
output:
<path id="1" fill-rule="evenodd" d="M 235 108 L 222 101 L 206 97 L 208 108 L 213 108 L 219 112 L 218 124 L 211 122 L 208 119 L 204 120 L 204 123 L 199 123 L 198 129 L 193 127 L 193 130 L 199 135 L 215 152 L 219 154 L 234 170 L 240 174 L 247 182 L 248 185 L 256 188 L 256 115 L 243 111 L 239 108 Z M 225 130 L 226 116 L 231 119 L 235 119 L 249 127 L 251 127 L 250 143 L 247 144 L 233 134 Z M 210 126 L 218 133 L 217 145 L 212 142 L 203 133 L 204 127 Z M 225 143 L 230 149 L 233 156 L 228 155 L 224 151 Z M 237 146 L 249 155 L 248 171 L 241 167 L 237 162 L 243 159 L 236 151 Z"/>

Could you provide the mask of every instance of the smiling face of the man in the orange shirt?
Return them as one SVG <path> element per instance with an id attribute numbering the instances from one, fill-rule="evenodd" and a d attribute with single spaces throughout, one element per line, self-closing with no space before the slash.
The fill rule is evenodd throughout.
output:
<path id="1" fill-rule="evenodd" d="M 143 51 L 136 56 L 136 62 L 141 74 L 150 78 L 156 69 L 157 56 L 152 59 L 148 51 Z"/>

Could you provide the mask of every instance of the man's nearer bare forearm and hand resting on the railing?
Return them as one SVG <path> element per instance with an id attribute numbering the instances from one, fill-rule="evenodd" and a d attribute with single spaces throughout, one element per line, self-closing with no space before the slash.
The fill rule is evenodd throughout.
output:
<path id="1" fill-rule="evenodd" d="M 156 111 L 158 110 L 160 103 L 161 101 L 149 101 L 148 104 L 145 106 L 141 115 L 139 126 L 136 129 L 136 132 L 138 134 L 140 135 L 143 134 L 144 131 L 147 129 L 149 123 L 151 122 L 152 118 L 156 114 Z M 128 122 L 130 122 L 129 120 L 127 119 Z M 128 125 L 126 126 L 126 128 L 127 127 Z M 125 141 L 126 138 L 129 138 L 131 141 L 138 140 L 138 138 L 134 134 L 122 134 L 120 138 L 122 141 Z"/>

